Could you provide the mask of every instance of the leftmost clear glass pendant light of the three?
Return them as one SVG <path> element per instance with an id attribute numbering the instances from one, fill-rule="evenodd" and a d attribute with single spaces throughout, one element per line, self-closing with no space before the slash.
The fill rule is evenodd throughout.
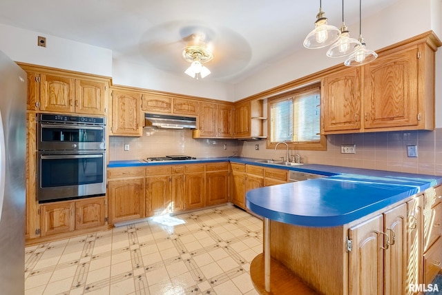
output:
<path id="1" fill-rule="evenodd" d="M 304 47 L 308 49 L 323 48 L 334 43 L 340 36 L 340 30 L 335 26 L 327 25 L 327 17 L 323 12 L 321 0 L 319 12 L 316 14 L 315 28 L 304 40 Z"/>

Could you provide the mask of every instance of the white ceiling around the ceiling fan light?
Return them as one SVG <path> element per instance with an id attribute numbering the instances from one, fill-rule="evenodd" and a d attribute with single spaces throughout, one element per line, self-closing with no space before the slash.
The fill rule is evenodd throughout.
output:
<path id="1" fill-rule="evenodd" d="M 362 17 L 397 1 L 365 0 Z M 357 39 L 359 1 L 344 4 L 345 23 Z M 322 8 L 339 28 L 342 1 L 322 1 Z M 235 83 L 307 50 L 302 41 L 318 9 L 319 1 L 305 0 L 2 0 L 0 23 L 108 48 L 114 58 L 178 74 L 188 66 L 183 38 L 202 31 L 215 55 L 205 79 Z"/>

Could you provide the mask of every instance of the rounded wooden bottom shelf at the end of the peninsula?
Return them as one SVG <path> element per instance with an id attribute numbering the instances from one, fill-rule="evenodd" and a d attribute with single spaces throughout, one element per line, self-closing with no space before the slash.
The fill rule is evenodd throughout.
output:
<path id="1" fill-rule="evenodd" d="M 256 256 L 250 265 L 250 276 L 253 285 L 260 294 L 278 295 L 319 295 L 301 279 L 278 261 L 271 259 L 270 263 L 270 292 L 264 287 L 264 254 Z"/>

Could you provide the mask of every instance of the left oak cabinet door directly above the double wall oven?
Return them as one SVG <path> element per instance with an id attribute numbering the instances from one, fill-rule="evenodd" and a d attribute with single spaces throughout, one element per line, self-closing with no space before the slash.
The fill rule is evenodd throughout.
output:
<path id="1" fill-rule="evenodd" d="M 74 112 L 74 79 L 40 74 L 40 110 L 48 112 Z"/>

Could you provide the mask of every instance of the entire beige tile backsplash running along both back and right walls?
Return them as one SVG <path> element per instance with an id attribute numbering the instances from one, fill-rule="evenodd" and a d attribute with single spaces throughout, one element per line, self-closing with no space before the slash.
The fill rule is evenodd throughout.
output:
<path id="1" fill-rule="evenodd" d="M 266 149 L 265 140 L 193 139 L 191 130 L 144 128 L 143 132 L 142 137 L 110 136 L 109 160 L 139 160 L 169 154 L 279 159 L 286 154 L 285 150 Z M 129 145 L 128 151 L 124 151 L 125 144 Z M 341 154 L 341 144 L 356 144 L 356 154 Z M 407 156 L 407 145 L 417 145 L 416 158 Z M 289 154 L 300 154 L 303 163 L 442 175 L 442 128 L 329 135 L 326 151 L 289 150 Z"/>

